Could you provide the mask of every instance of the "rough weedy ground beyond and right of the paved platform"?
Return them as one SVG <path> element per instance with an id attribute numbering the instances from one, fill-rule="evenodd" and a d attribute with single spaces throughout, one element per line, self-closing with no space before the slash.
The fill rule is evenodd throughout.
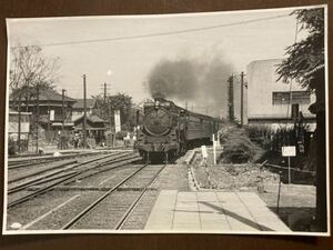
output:
<path id="1" fill-rule="evenodd" d="M 212 150 L 208 150 L 205 164 L 201 153 L 195 153 L 192 163 L 194 176 L 201 189 L 221 191 L 256 192 L 268 207 L 275 212 L 292 230 L 311 231 L 315 212 L 315 187 L 305 184 L 281 184 L 278 209 L 278 173 L 258 163 L 225 164 L 218 161 L 213 166 Z"/>

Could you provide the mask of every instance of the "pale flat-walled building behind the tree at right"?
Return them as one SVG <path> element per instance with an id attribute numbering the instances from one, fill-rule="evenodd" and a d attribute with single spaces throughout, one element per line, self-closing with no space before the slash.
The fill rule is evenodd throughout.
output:
<path id="1" fill-rule="evenodd" d="M 294 116 L 302 112 L 311 130 L 315 128 L 315 116 L 309 107 L 315 102 L 314 93 L 297 82 L 278 80 L 275 72 L 280 59 L 252 61 L 248 66 L 248 118 L 249 124 L 268 124 L 273 128 L 290 127 Z"/>

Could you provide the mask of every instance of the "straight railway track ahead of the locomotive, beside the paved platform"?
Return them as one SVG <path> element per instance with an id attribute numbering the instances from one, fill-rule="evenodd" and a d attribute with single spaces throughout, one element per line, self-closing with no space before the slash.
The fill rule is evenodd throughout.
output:
<path id="1" fill-rule="evenodd" d="M 113 217 L 117 218 L 118 221 L 112 221 L 112 223 L 109 223 L 105 226 L 107 228 L 112 227 L 111 229 L 113 230 L 120 230 L 128 218 L 131 216 L 131 213 L 134 211 L 135 207 L 138 203 L 141 201 L 143 198 L 144 193 L 148 191 L 149 187 L 154 182 L 154 180 L 159 177 L 160 172 L 165 168 L 167 164 L 163 164 L 157 169 L 157 167 L 153 167 L 154 171 L 152 171 L 150 168 L 152 168 L 149 164 L 143 164 L 140 167 L 138 170 L 133 171 L 129 176 L 127 176 L 124 179 L 122 179 L 119 183 L 117 183 L 113 187 L 110 187 L 107 191 L 103 192 L 100 197 L 98 197 L 95 200 L 93 200 L 91 203 L 89 203 L 87 207 L 84 207 L 81 212 L 79 212 L 75 217 L 73 217 L 69 222 L 67 222 L 63 227 L 62 230 L 69 230 L 69 229 L 87 229 L 91 227 L 90 222 L 97 221 L 98 219 L 94 217 L 94 214 L 98 214 L 99 218 L 107 218 L 100 214 L 100 210 L 103 210 L 102 207 L 107 206 L 108 211 L 110 210 L 110 207 L 108 206 L 108 202 L 103 204 L 107 200 L 117 200 L 117 197 L 120 197 L 122 200 L 127 200 L 127 193 L 122 193 L 119 196 L 118 190 L 121 189 L 122 187 L 128 187 L 131 186 L 132 183 L 137 183 L 135 178 L 141 173 L 142 177 L 144 177 L 144 183 L 141 183 L 141 187 L 133 193 L 130 192 L 129 194 L 129 200 L 125 202 L 124 206 L 119 206 L 119 203 L 115 203 L 114 210 L 115 213 L 114 216 L 108 214 L 108 217 Z M 145 171 L 147 170 L 147 171 Z M 145 172 L 144 172 L 145 171 Z M 101 223 L 103 224 L 103 223 Z"/>

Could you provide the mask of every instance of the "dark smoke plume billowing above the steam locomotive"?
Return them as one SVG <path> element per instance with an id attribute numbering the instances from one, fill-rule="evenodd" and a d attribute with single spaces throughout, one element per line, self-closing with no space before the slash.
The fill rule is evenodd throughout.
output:
<path id="1" fill-rule="evenodd" d="M 228 117 L 228 79 L 233 72 L 231 63 L 216 53 L 211 59 L 163 60 L 149 76 L 149 90 L 153 98 L 174 99 L 181 106 L 211 116 Z"/>

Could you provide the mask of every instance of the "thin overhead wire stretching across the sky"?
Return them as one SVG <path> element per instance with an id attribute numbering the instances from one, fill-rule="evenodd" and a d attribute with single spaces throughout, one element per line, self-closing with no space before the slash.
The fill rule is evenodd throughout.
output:
<path id="1" fill-rule="evenodd" d="M 203 31 L 203 30 L 219 29 L 219 28 L 231 27 L 231 26 L 241 26 L 241 24 L 266 21 L 266 20 L 279 19 L 279 18 L 284 18 L 284 17 L 290 17 L 290 14 L 279 14 L 279 16 L 273 16 L 273 17 L 269 17 L 269 18 L 259 18 L 259 19 L 251 19 L 251 20 L 239 21 L 239 22 L 230 22 L 230 23 L 218 24 L 218 26 L 209 26 L 209 27 L 193 28 L 193 29 L 185 29 L 185 30 L 175 30 L 175 31 L 168 31 L 168 32 L 160 32 L 160 33 L 149 33 L 149 34 L 128 36 L 128 37 L 118 37 L 118 38 L 91 39 L 91 40 L 69 41 L 69 42 L 51 42 L 51 43 L 43 43 L 43 44 L 38 44 L 38 46 L 40 46 L 40 47 L 69 46 L 69 44 L 111 42 L 111 41 L 162 37 L 162 36 L 171 36 L 171 34 L 179 34 L 179 33 L 190 33 L 190 32 L 196 32 L 196 31 Z M 32 44 L 30 44 L 30 46 L 32 46 Z M 29 47 L 29 46 L 13 46 L 11 48 L 23 48 L 23 47 Z"/>

